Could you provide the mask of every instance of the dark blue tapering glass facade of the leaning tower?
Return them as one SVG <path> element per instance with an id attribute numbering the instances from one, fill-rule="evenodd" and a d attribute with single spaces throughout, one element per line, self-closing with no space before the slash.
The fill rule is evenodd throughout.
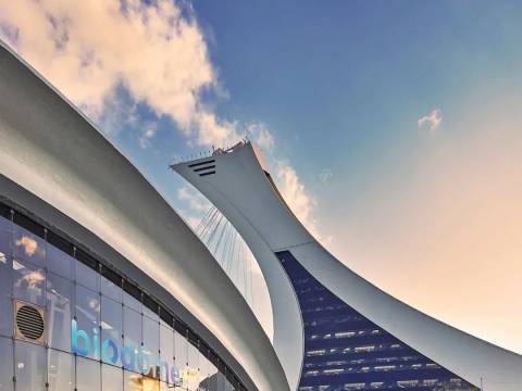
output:
<path id="1" fill-rule="evenodd" d="M 294 286 L 304 324 L 299 391 L 478 391 L 351 308 L 289 251 L 276 255 Z"/>

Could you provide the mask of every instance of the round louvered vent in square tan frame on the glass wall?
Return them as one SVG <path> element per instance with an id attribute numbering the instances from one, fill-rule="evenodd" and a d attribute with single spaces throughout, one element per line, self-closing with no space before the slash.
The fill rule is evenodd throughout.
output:
<path id="1" fill-rule="evenodd" d="M 45 310 L 22 301 L 15 302 L 15 337 L 21 340 L 45 343 Z"/>

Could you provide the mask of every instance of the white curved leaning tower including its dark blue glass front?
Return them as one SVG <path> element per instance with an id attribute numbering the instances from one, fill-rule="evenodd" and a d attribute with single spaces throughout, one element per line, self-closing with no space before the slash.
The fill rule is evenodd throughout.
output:
<path id="1" fill-rule="evenodd" d="M 412 308 L 332 256 L 286 205 L 254 144 L 172 168 L 225 215 L 260 264 L 290 389 L 522 390 L 521 355 Z"/>

